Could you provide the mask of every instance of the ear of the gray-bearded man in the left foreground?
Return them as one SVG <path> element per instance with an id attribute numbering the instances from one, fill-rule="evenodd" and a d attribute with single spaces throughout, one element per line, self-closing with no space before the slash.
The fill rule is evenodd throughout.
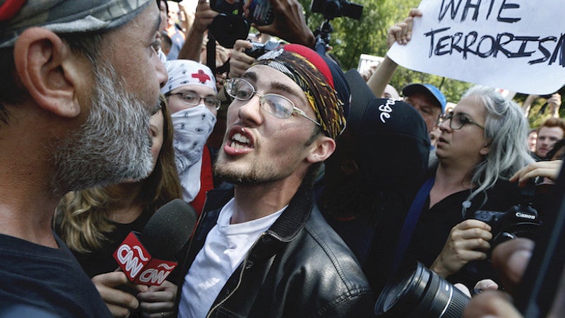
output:
<path id="1" fill-rule="evenodd" d="M 59 36 L 44 28 L 28 28 L 14 46 L 20 82 L 44 110 L 61 117 L 81 112 L 77 85 L 84 81 L 81 63 Z"/>

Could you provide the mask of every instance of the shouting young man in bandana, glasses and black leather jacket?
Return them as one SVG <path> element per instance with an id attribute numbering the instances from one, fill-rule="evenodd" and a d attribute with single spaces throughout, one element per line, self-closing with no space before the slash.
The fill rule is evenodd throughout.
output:
<path id="1" fill-rule="evenodd" d="M 179 317 L 369 317 L 367 279 L 312 190 L 345 129 L 343 73 L 307 47 L 286 45 L 225 90 L 233 102 L 215 172 L 234 191 L 208 193 Z"/>

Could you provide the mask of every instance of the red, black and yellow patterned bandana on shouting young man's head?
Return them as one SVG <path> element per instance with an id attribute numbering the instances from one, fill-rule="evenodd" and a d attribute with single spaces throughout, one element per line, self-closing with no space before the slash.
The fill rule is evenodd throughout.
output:
<path id="1" fill-rule="evenodd" d="M 337 66 L 331 69 L 321 55 L 308 47 L 294 44 L 263 54 L 255 61 L 254 65 L 257 64 L 285 73 L 304 90 L 326 136 L 336 139 L 343 132 L 344 107 L 349 106 L 350 94 L 343 73 Z M 341 89 L 336 90 L 335 86 Z"/>

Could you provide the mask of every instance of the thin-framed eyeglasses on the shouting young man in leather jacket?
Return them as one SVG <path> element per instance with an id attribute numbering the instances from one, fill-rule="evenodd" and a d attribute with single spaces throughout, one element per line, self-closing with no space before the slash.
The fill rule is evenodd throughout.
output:
<path id="1" fill-rule="evenodd" d="M 319 122 L 316 122 L 316 120 L 308 117 L 304 110 L 296 107 L 295 103 L 292 102 L 292 100 L 285 98 L 285 96 L 283 95 L 273 93 L 263 95 L 261 93 L 258 93 L 257 90 L 255 90 L 253 84 L 249 83 L 243 78 L 230 78 L 225 82 L 224 87 L 227 95 L 230 95 L 236 100 L 251 100 L 251 98 L 253 98 L 253 95 L 258 95 L 259 105 L 261 106 L 261 108 L 274 117 L 287 119 L 292 116 L 292 114 L 296 113 L 308 119 L 310 122 L 321 126 Z"/>

